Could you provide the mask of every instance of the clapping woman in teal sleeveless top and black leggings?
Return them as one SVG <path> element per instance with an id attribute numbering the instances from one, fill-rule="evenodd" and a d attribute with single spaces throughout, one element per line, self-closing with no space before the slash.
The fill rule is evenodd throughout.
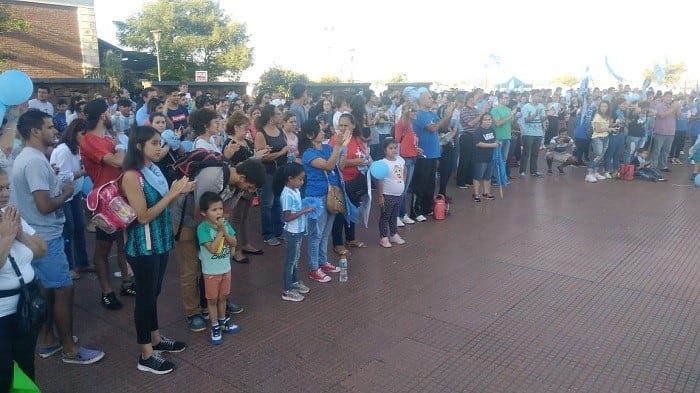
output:
<path id="1" fill-rule="evenodd" d="M 164 337 L 158 329 L 160 295 L 168 255 L 173 248 L 173 227 L 168 205 L 180 194 L 194 189 L 194 182 L 183 177 L 168 182 L 154 162 L 161 157 L 160 134 L 149 126 L 138 127 L 129 136 L 124 157 L 121 191 L 136 211 L 136 221 L 126 230 L 126 258 L 134 272 L 138 291 L 134 306 L 136 337 L 141 355 L 137 368 L 154 374 L 167 374 L 175 366 L 160 352 L 182 352 L 185 343 Z"/>

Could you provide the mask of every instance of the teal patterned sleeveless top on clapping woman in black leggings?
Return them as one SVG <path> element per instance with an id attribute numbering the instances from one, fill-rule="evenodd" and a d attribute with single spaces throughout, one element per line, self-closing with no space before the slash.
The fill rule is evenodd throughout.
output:
<path id="1" fill-rule="evenodd" d="M 146 206 L 153 207 L 163 197 L 160 196 L 153 186 L 147 181 L 143 181 L 143 194 L 146 198 Z M 148 247 L 148 237 L 146 230 L 149 231 L 150 249 Z M 169 252 L 173 248 L 173 227 L 170 219 L 170 208 L 166 207 L 158 217 L 146 225 L 134 221 L 126 229 L 126 244 L 124 251 L 126 255 L 131 257 L 139 257 L 145 255 L 160 255 Z"/>

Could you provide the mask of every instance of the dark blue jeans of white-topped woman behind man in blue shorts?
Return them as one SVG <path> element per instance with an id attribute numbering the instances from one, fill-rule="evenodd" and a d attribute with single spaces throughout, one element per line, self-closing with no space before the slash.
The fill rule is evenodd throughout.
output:
<path id="1" fill-rule="evenodd" d="M 68 258 L 68 267 L 71 269 L 88 267 L 90 262 L 85 242 L 85 214 L 83 214 L 83 201 L 80 195 L 74 196 L 63 204 L 63 214 L 66 217 L 66 222 L 63 224 L 65 242 L 63 250 Z"/>

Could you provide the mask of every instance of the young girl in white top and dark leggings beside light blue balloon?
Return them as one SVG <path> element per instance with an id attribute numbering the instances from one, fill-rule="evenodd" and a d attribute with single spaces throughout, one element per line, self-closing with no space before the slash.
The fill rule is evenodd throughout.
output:
<path id="1" fill-rule="evenodd" d="M 399 205 L 406 183 L 406 165 L 398 155 L 398 144 L 393 138 L 384 140 L 384 159 L 389 173 L 384 179 L 377 180 L 377 197 L 382 209 L 379 216 L 379 245 L 389 248 L 391 243 L 404 244 L 396 229 L 396 219 L 399 217 Z"/>

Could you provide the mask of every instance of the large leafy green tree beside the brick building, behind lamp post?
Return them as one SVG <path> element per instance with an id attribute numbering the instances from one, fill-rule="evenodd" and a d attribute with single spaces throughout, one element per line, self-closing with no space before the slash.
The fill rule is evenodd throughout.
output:
<path id="1" fill-rule="evenodd" d="M 115 22 L 122 45 L 155 54 L 154 30 L 164 80 L 190 80 L 196 70 L 238 80 L 253 64 L 246 25 L 231 20 L 213 0 L 157 0 L 140 13 Z"/>

